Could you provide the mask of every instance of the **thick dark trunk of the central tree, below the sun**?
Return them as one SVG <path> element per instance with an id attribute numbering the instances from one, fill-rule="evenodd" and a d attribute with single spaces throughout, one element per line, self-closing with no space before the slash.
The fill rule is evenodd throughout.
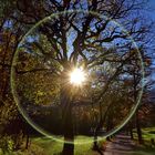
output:
<path id="1" fill-rule="evenodd" d="M 71 85 L 69 84 L 69 82 L 64 82 L 64 81 L 65 81 L 65 75 L 63 78 L 63 84 L 61 85 L 62 126 L 63 126 L 63 135 L 64 135 L 64 145 L 63 145 L 62 155 L 73 155 L 74 154 L 74 131 L 73 131 L 73 115 L 72 115 L 73 96 L 71 93 Z"/>

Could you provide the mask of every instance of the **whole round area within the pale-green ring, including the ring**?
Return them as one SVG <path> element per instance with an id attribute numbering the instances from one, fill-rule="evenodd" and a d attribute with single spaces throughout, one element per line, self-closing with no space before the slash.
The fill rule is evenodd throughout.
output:
<path id="1" fill-rule="evenodd" d="M 134 72 L 141 75 L 136 97 Z M 92 11 L 68 10 L 39 21 L 22 38 L 11 66 L 20 113 L 62 143 L 92 143 L 94 135 L 100 141 L 121 130 L 135 113 L 143 86 L 143 60 L 133 38 Z"/>

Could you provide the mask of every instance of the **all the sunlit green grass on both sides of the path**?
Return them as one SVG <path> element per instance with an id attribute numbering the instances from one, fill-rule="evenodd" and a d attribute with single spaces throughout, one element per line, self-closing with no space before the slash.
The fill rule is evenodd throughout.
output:
<path id="1" fill-rule="evenodd" d="M 151 138 L 155 140 L 155 127 L 143 128 L 143 138 L 145 145 L 137 145 L 137 148 L 133 152 L 132 155 L 155 155 L 155 146 L 151 145 Z M 62 137 L 60 137 L 62 138 Z M 136 132 L 134 131 L 134 138 L 137 141 Z M 63 140 L 63 138 L 62 138 Z M 75 137 L 75 142 L 87 142 L 92 140 L 89 136 L 78 136 Z M 103 146 L 102 140 L 100 143 Z M 89 144 L 75 144 L 74 155 L 99 155 L 96 152 L 92 151 L 92 143 Z M 31 145 L 29 149 L 21 148 L 16 153 L 9 153 L 6 155 L 59 155 L 62 152 L 63 143 L 55 142 L 53 140 L 40 136 L 40 137 L 31 137 Z M 0 155 L 3 155 L 0 152 Z"/>

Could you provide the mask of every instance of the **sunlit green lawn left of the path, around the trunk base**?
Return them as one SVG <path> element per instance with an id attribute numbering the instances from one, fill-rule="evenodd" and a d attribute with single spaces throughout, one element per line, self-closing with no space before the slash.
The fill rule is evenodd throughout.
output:
<path id="1" fill-rule="evenodd" d="M 78 136 L 76 141 L 90 141 L 89 136 Z M 104 142 L 103 140 L 101 144 Z M 31 138 L 31 146 L 29 151 L 19 151 L 13 155 L 59 155 L 62 152 L 63 144 L 52 141 L 46 137 L 33 137 Z M 99 155 L 92 149 L 92 143 L 89 144 L 75 144 L 74 155 Z"/>

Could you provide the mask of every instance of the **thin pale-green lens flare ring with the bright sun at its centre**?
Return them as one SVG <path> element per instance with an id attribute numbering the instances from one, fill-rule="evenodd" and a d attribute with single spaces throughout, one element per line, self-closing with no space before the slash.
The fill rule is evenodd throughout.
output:
<path id="1" fill-rule="evenodd" d="M 19 86 L 21 84 L 19 84 L 19 79 L 20 76 L 18 78 L 18 73 L 17 73 L 17 66 L 19 65 L 19 62 L 21 60 L 19 60 L 19 55 L 21 52 L 23 52 L 21 50 L 21 46 L 23 46 L 25 44 L 25 42 L 28 41 L 28 38 L 31 37 L 32 34 L 35 34 L 37 33 L 37 38 L 39 35 L 38 33 L 38 29 L 40 27 L 42 27 L 43 24 L 45 24 L 46 22 L 51 22 L 53 19 L 56 19 L 59 18 L 60 16 L 63 16 L 63 14 L 71 14 L 71 13 L 85 13 L 86 16 L 87 14 L 92 14 L 92 16 L 95 16 L 95 17 L 99 17 L 99 19 L 101 20 L 105 20 L 105 21 L 111 21 L 113 24 L 117 25 L 121 30 L 122 30 L 122 33 L 125 33 L 125 35 L 127 35 L 127 39 L 131 40 L 132 44 L 135 46 L 136 49 L 136 52 L 137 52 L 137 55 L 138 55 L 138 63 L 141 65 L 141 76 L 142 76 L 142 82 L 141 82 L 141 90 L 137 94 L 137 100 L 135 102 L 135 104 L 130 108 L 128 113 L 124 116 L 123 121 L 120 122 L 120 124 L 117 124 L 116 126 L 114 126 L 111 131 L 108 132 L 105 132 L 103 135 L 99 136 L 99 138 L 96 141 L 102 141 L 104 140 L 105 137 L 107 136 L 111 136 L 113 135 L 114 133 L 116 133 L 117 131 L 120 131 L 130 120 L 131 117 L 134 115 L 134 113 L 136 112 L 140 103 L 141 103 L 141 97 L 143 95 L 143 89 L 144 89 L 144 85 L 145 85 L 145 82 L 144 82 L 144 79 L 145 79 L 145 72 L 144 72 L 144 62 L 143 62 L 143 59 L 142 59 L 142 55 L 141 55 L 141 52 L 138 51 L 138 46 L 136 45 L 136 42 L 133 40 L 133 38 L 130 35 L 130 33 L 124 29 L 123 25 L 121 25 L 120 23 L 117 23 L 116 21 L 112 20 L 112 19 L 108 19 L 107 17 L 103 16 L 103 14 L 99 14 L 97 12 L 93 12 L 93 11 L 87 11 L 87 10 L 68 10 L 68 11 L 62 11 L 62 12 L 58 12 L 58 13 L 52 13 L 50 14 L 49 17 L 45 17 L 44 19 L 42 19 L 41 21 L 39 21 L 38 23 L 35 23 L 24 35 L 23 38 L 21 39 L 21 41 L 19 42 L 19 45 L 16 50 L 16 53 L 13 55 L 13 60 L 12 60 L 12 65 L 11 65 L 11 75 L 10 75 L 10 83 L 11 83 L 11 92 L 12 92 L 12 95 L 13 95 L 13 99 L 17 103 L 17 106 L 19 108 L 19 112 L 21 113 L 21 115 L 25 118 L 25 121 L 33 127 L 35 128 L 38 132 L 40 132 L 42 135 L 45 135 L 46 137 L 51 138 L 51 140 L 54 140 L 56 142 L 61 142 L 61 143 L 70 143 L 70 144 L 92 144 L 94 142 L 94 137 L 91 136 L 91 137 L 86 137 L 84 138 L 75 138 L 74 142 L 72 141 L 66 141 L 66 140 L 63 140 L 63 137 L 61 137 L 60 135 L 54 135 L 53 133 L 49 132 L 48 130 L 45 130 L 44 126 L 38 124 L 38 122 L 35 122 L 35 120 L 32 118 L 32 116 L 30 115 L 29 111 L 24 107 L 23 105 L 23 102 L 22 102 L 22 93 L 25 92 L 25 89 L 22 89 L 22 91 L 18 91 Z M 80 17 L 80 16 L 78 16 Z M 27 45 L 27 44 L 25 44 Z M 96 50 L 103 48 L 102 45 L 96 48 Z M 97 70 L 97 69 L 96 69 Z M 22 76 L 21 76 L 22 78 Z M 82 69 L 74 69 L 72 72 L 70 72 L 68 74 L 68 80 L 71 84 L 74 84 L 74 85 L 82 85 L 85 80 L 86 81 L 90 81 L 89 79 L 89 75 L 87 75 L 87 72 L 84 72 L 84 70 Z M 21 80 L 21 82 L 23 82 Z M 31 89 L 31 86 L 29 86 Z M 101 90 L 102 91 L 102 90 Z M 29 100 L 29 99 L 28 99 Z M 83 107 L 82 107 L 83 108 Z"/>

